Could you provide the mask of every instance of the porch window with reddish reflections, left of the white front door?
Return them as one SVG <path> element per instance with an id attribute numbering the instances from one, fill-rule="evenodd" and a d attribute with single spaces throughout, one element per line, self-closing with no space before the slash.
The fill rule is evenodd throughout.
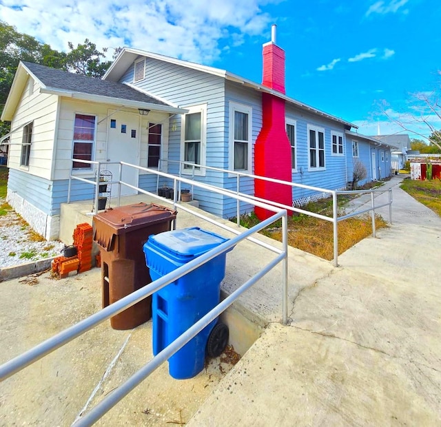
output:
<path id="1" fill-rule="evenodd" d="M 95 116 L 75 114 L 74 123 L 74 158 L 92 160 L 95 140 Z M 74 162 L 74 169 L 90 169 L 88 163 Z"/>

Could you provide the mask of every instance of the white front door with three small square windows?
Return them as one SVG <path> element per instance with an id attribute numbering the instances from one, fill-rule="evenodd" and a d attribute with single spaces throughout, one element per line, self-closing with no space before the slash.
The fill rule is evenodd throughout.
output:
<path id="1" fill-rule="evenodd" d="M 107 161 L 139 165 L 139 114 L 116 112 L 107 121 Z M 138 187 L 138 169 L 123 166 L 121 177 L 119 165 L 108 165 L 107 170 L 112 172 L 113 181 L 121 180 Z M 130 194 L 136 194 L 136 190 L 121 185 L 121 196 Z M 112 197 L 115 196 L 118 196 L 116 184 L 112 185 Z"/>

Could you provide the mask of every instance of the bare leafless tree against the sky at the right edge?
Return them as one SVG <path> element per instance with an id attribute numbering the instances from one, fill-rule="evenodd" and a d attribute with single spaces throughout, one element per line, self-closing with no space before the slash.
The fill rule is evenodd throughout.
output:
<path id="1" fill-rule="evenodd" d="M 438 70 L 438 81 L 433 90 L 429 92 L 417 92 L 410 95 L 410 110 L 413 113 L 398 114 L 390 113 L 385 101 L 382 103 L 382 113 L 393 123 L 398 124 L 402 129 L 417 134 L 426 140 L 429 147 L 441 151 L 441 130 L 436 128 L 435 123 L 441 121 L 441 70 Z M 417 126 L 416 126 L 417 125 Z M 430 132 L 430 136 L 427 135 Z"/>

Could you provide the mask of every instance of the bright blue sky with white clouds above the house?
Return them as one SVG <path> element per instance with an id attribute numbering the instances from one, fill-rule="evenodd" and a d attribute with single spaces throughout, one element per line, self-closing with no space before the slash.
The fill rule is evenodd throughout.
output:
<path id="1" fill-rule="evenodd" d="M 433 0 L 0 0 L 0 19 L 56 50 L 88 38 L 227 70 L 261 83 L 277 25 L 286 92 L 365 135 L 429 136 L 440 88 L 441 2 Z M 110 58 L 109 58 L 110 59 Z M 406 132 L 396 122 L 409 128 Z"/>

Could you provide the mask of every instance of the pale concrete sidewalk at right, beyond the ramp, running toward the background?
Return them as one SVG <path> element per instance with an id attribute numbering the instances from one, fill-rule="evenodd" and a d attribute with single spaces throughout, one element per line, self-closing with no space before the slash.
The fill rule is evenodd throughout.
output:
<path id="1" fill-rule="evenodd" d="M 393 225 L 303 289 L 188 426 L 441 424 L 441 218 L 398 178 Z"/>

